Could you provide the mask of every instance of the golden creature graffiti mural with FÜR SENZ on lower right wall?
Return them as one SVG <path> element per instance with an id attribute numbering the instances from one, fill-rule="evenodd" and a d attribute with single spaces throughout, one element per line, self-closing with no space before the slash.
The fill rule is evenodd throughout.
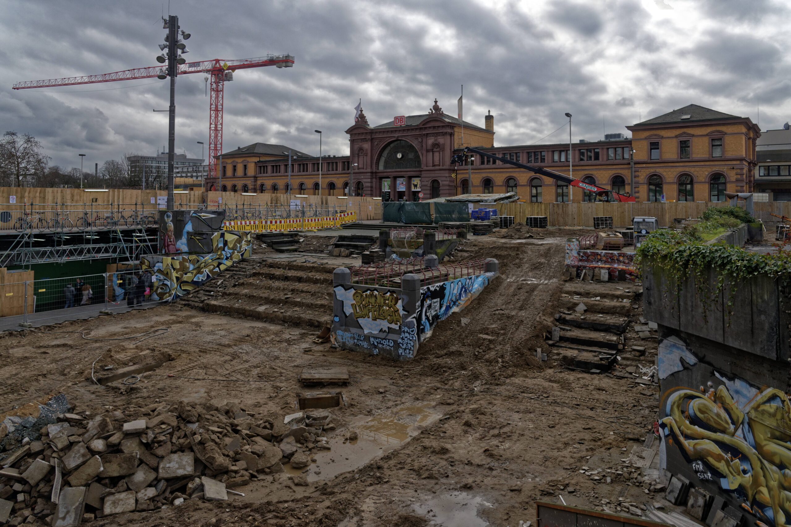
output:
<path id="1" fill-rule="evenodd" d="M 791 404 L 788 394 L 754 386 L 703 363 L 678 337 L 660 343 L 665 390 L 663 468 L 681 454 L 691 476 L 721 491 L 756 525 L 788 525 L 791 515 Z M 689 378 L 698 379 L 693 386 Z M 700 386 L 698 386 L 698 383 Z M 705 383 L 705 386 L 704 386 Z"/>

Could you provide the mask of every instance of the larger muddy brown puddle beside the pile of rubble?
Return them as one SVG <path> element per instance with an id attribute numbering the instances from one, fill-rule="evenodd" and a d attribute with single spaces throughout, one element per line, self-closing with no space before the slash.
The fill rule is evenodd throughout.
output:
<path id="1" fill-rule="evenodd" d="M 329 441 L 331 450 L 314 451 L 315 463 L 303 469 L 293 469 L 290 464 L 283 468 L 292 475 L 305 473 L 308 481 L 329 480 L 357 469 L 418 435 L 420 425 L 438 420 L 441 414 L 432 405 L 405 406 L 382 416 L 361 417 L 348 427 L 357 431 L 357 440 L 343 442 L 345 434 L 338 431 Z"/>

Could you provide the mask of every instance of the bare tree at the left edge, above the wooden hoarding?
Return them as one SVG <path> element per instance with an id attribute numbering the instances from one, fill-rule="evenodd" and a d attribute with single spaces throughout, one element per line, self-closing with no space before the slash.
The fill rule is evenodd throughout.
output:
<path id="1" fill-rule="evenodd" d="M 34 183 L 43 175 L 50 158 L 41 151 L 41 143 L 30 134 L 6 132 L 0 140 L 0 181 L 11 186 Z"/>

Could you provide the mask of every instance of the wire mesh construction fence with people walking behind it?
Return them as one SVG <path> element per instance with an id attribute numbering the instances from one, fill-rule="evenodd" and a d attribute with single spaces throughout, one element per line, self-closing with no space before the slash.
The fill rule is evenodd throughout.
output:
<path id="1" fill-rule="evenodd" d="M 0 284 L 0 299 L 6 303 L 0 321 L 7 317 L 19 317 L 21 323 L 70 319 L 80 312 L 111 312 L 169 302 L 157 298 L 155 286 L 154 277 L 146 284 L 140 270 Z"/>

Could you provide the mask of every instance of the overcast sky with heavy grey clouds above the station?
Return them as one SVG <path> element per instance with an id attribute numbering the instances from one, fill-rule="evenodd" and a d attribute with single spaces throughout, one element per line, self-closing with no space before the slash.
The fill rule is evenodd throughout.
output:
<path id="1" fill-rule="evenodd" d="M 0 2 L 0 133 L 43 142 L 52 164 L 85 168 L 167 145 L 168 81 L 13 90 L 17 81 L 155 66 L 161 0 Z M 255 141 L 348 155 L 362 99 L 369 123 L 426 113 L 495 116 L 495 145 L 573 140 L 694 103 L 759 121 L 791 119 L 787 2 L 773 0 L 171 0 L 188 61 L 295 56 L 225 85 L 224 150 Z M 208 147 L 202 73 L 178 77 L 176 152 Z M 758 107 L 760 106 L 760 118 Z M 207 152 L 205 154 L 207 156 Z"/>

